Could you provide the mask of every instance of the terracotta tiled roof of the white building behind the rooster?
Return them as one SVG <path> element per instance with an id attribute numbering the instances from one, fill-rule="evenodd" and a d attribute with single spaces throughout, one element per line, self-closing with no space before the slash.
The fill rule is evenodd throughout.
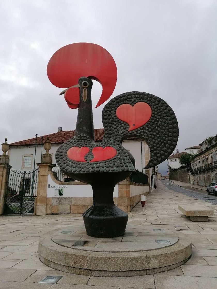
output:
<path id="1" fill-rule="evenodd" d="M 49 137 L 49 141 L 52 144 L 61 144 L 68 140 L 69 138 L 73 137 L 75 135 L 74 130 L 65 130 L 56 132 L 54 134 L 47 134 L 43 136 L 43 144 L 45 143 L 47 137 Z M 104 136 L 104 129 L 103 128 L 97 128 L 94 129 L 94 137 L 95 141 L 101 141 Z M 41 144 L 41 136 L 37 137 L 37 144 Z M 10 144 L 11 147 L 15 146 L 25 146 L 25 145 L 35 145 L 35 138 L 30 138 L 28 140 L 21 140 L 19 142 L 13 142 Z"/>

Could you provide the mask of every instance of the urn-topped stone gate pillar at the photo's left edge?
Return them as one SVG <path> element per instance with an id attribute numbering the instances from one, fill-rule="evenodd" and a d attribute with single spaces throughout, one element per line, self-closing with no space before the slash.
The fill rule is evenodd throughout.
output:
<path id="1" fill-rule="evenodd" d="M 9 155 L 6 155 L 6 152 L 9 149 L 9 144 L 7 144 L 7 138 L 5 138 L 5 142 L 1 144 L 1 149 L 3 151 L 3 154 L 0 155 L 0 215 L 2 215 L 4 212 L 5 193 L 7 189 L 9 173 Z"/>

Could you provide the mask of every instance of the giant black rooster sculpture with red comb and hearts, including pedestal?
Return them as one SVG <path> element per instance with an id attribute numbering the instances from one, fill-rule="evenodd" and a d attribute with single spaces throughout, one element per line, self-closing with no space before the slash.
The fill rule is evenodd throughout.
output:
<path id="1" fill-rule="evenodd" d="M 96 107 L 113 93 L 117 68 L 103 47 L 75 43 L 54 53 L 47 65 L 49 80 L 67 88 L 64 94 L 69 108 L 78 108 L 75 136 L 60 145 L 56 163 L 68 176 L 86 182 L 93 189 L 93 205 L 83 213 L 89 236 L 123 236 L 128 214 L 113 202 L 115 185 L 135 171 L 135 159 L 122 140 L 133 136 L 150 147 L 151 168 L 166 160 L 178 141 L 178 123 L 172 108 L 162 99 L 146 92 L 125 92 L 111 99 L 102 111 L 104 138 L 94 142 L 91 89 L 97 80 L 102 95 Z"/>

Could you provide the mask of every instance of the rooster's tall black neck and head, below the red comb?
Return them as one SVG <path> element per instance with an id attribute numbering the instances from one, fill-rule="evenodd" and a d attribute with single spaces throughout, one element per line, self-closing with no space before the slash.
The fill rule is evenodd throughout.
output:
<path id="1" fill-rule="evenodd" d="M 88 80 L 89 86 L 87 89 L 87 100 L 83 100 L 83 88 L 81 86 L 82 81 Z M 92 140 L 94 140 L 94 129 L 93 129 L 93 109 L 91 100 L 91 89 L 93 82 L 91 79 L 81 77 L 79 79 L 80 84 L 80 103 L 78 107 L 78 117 L 76 123 L 75 135 L 85 134 Z"/>

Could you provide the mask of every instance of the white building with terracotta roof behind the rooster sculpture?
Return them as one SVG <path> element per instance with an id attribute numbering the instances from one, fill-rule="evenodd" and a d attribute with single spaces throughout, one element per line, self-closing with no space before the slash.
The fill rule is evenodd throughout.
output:
<path id="1" fill-rule="evenodd" d="M 8 155 L 10 156 L 10 166 L 17 171 L 31 171 L 37 167 L 37 163 L 41 163 L 41 156 L 45 153 L 43 144 L 49 138 L 51 149 L 49 153 L 52 155 L 52 163 L 56 164 L 55 153 L 60 144 L 73 137 L 75 131 L 62 131 L 59 129 L 57 133 L 45 135 L 43 137 L 31 138 L 10 144 Z M 95 142 L 103 139 L 104 129 L 94 129 Z M 146 142 L 140 139 L 130 137 L 122 142 L 123 147 L 128 150 L 136 161 L 136 169 L 149 177 L 151 190 L 156 187 L 157 167 L 144 170 L 150 158 L 150 149 Z"/>

